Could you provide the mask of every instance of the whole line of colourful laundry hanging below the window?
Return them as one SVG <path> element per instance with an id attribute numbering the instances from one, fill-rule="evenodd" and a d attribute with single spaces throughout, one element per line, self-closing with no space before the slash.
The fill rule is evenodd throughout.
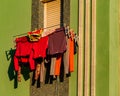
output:
<path id="1" fill-rule="evenodd" d="M 18 81 L 21 81 L 21 66 L 24 65 L 34 72 L 34 80 L 39 79 L 40 82 L 44 82 L 46 65 L 50 69 L 49 76 L 53 78 L 61 72 L 70 74 L 74 71 L 74 54 L 78 42 L 74 31 L 68 27 L 48 31 L 41 28 L 16 38 L 15 42 L 14 69 Z"/>

